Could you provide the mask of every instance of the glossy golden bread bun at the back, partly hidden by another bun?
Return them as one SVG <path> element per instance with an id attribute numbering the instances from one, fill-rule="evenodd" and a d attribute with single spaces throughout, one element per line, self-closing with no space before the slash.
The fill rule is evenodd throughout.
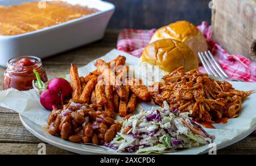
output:
<path id="1" fill-rule="evenodd" d="M 207 41 L 201 32 L 192 23 L 184 20 L 157 30 L 152 36 L 150 43 L 161 39 L 175 39 L 184 42 L 196 55 L 198 52 L 208 50 Z"/>

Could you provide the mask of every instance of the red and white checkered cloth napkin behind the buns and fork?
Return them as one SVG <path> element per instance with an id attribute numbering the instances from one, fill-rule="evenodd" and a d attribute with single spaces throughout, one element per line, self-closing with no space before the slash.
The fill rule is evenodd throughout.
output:
<path id="1" fill-rule="evenodd" d="M 234 80 L 245 82 L 256 82 L 256 63 L 243 55 L 230 55 L 221 45 L 212 40 L 212 27 L 203 22 L 198 26 L 199 30 L 207 39 L 209 50 L 220 63 L 225 72 Z M 144 47 L 150 42 L 155 29 L 146 30 L 123 30 L 118 36 L 117 49 L 125 51 L 131 55 L 140 57 Z M 200 67 L 200 72 L 206 73 L 204 67 Z"/>

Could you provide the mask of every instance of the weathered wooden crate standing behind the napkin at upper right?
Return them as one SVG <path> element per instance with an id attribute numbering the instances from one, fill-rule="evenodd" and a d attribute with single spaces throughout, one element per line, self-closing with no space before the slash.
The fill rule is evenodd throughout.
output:
<path id="1" fill-rule="evenodd" d="M 213 39 L 229 53 L 256 61 L 256 0 L 214 0 Z"/>

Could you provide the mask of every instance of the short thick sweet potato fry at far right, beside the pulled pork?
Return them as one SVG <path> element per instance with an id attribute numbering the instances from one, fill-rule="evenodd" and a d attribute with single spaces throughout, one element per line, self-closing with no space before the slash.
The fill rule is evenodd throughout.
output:
<path id="1" fill-rule="evenodd" d="M 148 92 L 147 86 L 143 85 L 142 80 L 132 78 L 129 80 L 129 85 L 131 92 L 133 92 L 138 98 L 143 101 L 151 101 L 150 93 Z"/>

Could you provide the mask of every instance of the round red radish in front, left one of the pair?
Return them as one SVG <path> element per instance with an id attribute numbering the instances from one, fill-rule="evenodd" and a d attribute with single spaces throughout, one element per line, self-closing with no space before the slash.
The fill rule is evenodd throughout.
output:
<path id="1" fill-rule="evenodd" d="M 58 109 L 60 97 L 56 91 L 47 89 L 40 94 L 40 103 L 48 110 Z"/>

